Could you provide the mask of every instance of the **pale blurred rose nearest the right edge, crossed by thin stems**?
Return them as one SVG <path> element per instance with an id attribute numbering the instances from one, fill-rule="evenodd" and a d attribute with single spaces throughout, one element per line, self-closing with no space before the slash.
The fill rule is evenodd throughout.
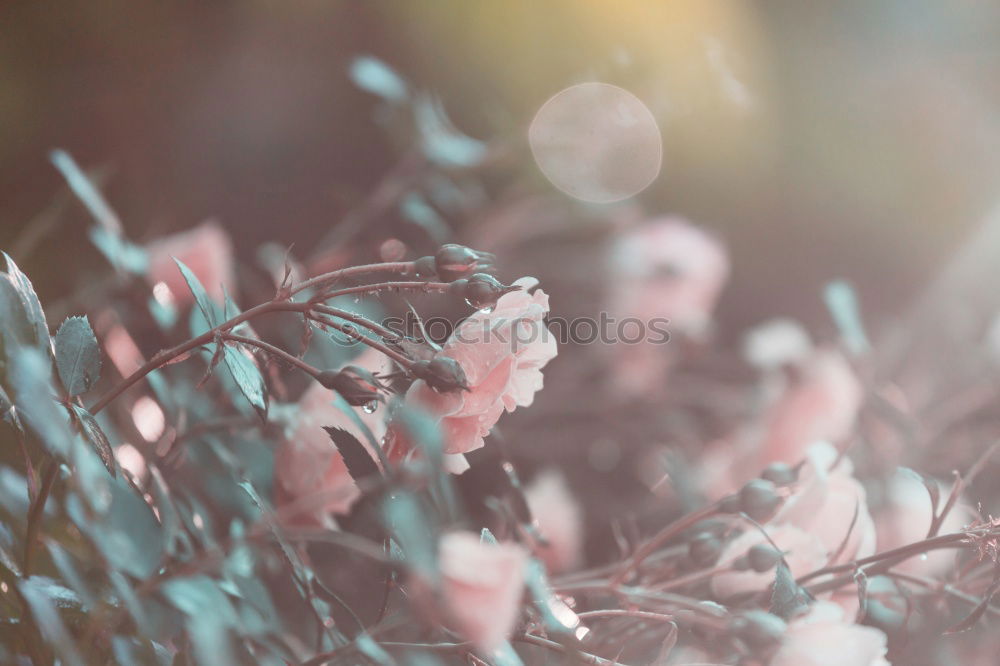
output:
<path id="1" fill-rule="evenodd" d="M 931 481 L 940 484 L 937 481 Z M 947 491 L 941 492 L 938 510 L 944 506 Z M 957 503 L 941 525 L 939 534 L 959 532 L 974 519 L 972 510 Z M 931 498 L 920 475 L 900 467 L 886 483 L 885 503 L 875 514 L 878 528 L 879 550 L 891 550 L 927 538 L 933 511 Z M 893 566 L 896 571 L 915 576 L 937 576 L 946 572 L 955 562 L 950 550 L 932 550 L 921 556 L 911 557 Z"/>

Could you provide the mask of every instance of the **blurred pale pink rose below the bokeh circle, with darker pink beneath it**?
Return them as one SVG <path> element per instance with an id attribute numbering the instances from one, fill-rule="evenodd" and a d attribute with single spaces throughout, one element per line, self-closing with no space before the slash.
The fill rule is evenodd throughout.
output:
<path id="1" fill-rule="evenodd" d="M 607 311 L 619 324 L 636 318 L 646 339 L 612 346 L 613 386 L 625 398 L 663 390 L 672 348 L 650 341 L 654 319 L 668 319 L 671 335 L 702 337 L 719 292 L 729 276 L 729 259 L 715 237 L 679 217 L 649 220 L 615 237 L 610 248 Z"/>

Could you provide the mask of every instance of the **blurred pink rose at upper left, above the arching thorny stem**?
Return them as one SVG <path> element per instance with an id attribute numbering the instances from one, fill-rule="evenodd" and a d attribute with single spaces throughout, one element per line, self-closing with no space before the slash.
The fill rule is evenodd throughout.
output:
<path id="1" fill-rule="evenodd" d="M 172 299 L 178 307 L 194 302 L 174 257 L 191 269 L 213 300 L 222 302 L 223 284 L 232 290 L 233 245 L 229 235 L 216 222 L 205 222 L 188 231 L 158 238 L 146 246 L 146 251 L 149 253 L 146 278 L 153 285 L 154 296 L 160 300 Z M 168 291 L 158 292 L 157 288 Z"/>

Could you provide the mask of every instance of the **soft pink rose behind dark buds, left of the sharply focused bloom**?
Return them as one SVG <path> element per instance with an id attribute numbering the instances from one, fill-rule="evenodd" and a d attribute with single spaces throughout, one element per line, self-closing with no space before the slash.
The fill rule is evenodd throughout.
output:
<path id="1" fill-rule="evenodd" d="M 366 351 L 353 364 L 377 372 L 387 362 L 378 352 Z M 361 493 L 323 427 L 343 428 L 362 444 L 369 442 L 354 419 L 334 405 L 333 391 L 318 382 L 310 384 L 298 407 L 294 429 L 275 453 L 275 497 L 290 524 L 328 527 L 330 514 L 348 513 Z M 385 434 L 383 410 L 355 410 L 376 441 Z"/>

